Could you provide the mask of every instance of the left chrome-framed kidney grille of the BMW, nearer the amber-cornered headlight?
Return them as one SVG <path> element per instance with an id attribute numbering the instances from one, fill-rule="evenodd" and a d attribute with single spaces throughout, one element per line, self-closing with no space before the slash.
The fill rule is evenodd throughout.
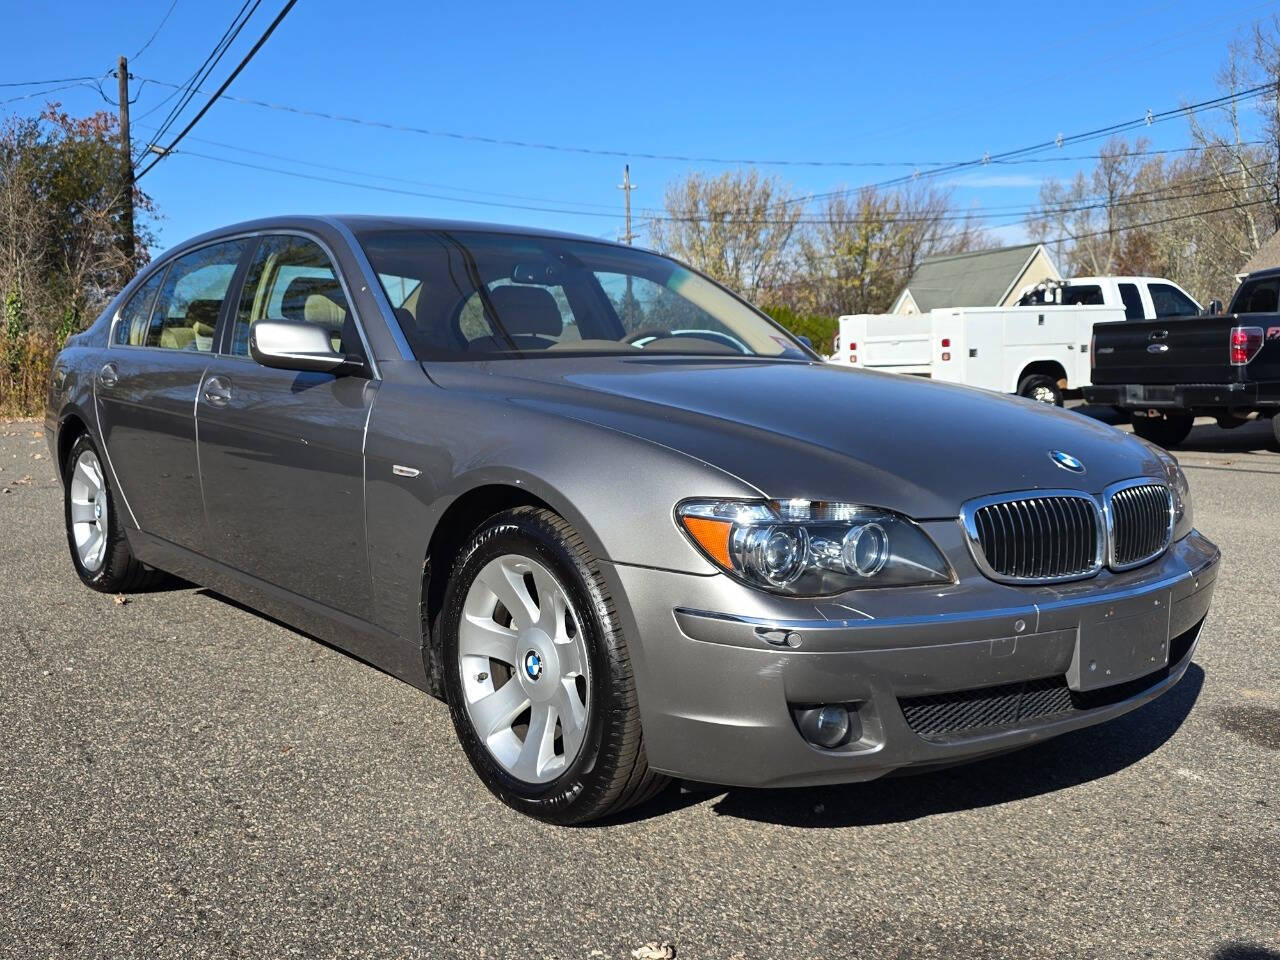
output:
<path id="1" fill-rule="evenodd" d="M 1149 483 L 1149 481 L 1143 481 Z M 1106 524 L 1082 490 L 1020 490 L 960 508 L 974 563 L 1002 584 L 1061 584 L 1102 570 Z"/>

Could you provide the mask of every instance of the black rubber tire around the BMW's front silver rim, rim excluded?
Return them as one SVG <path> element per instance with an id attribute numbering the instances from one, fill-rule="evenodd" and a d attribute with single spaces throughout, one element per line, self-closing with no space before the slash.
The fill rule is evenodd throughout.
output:
<path id="1" fill-rule="evenodd" d="M 591 682 L 586 733 L 575 760 L 547 783 L 511 776 L 477 736 L 463 700 L 458 655 L 463 604 L 484 566 L 506 554 L 535 559 L 556 575 L 580 612 L 588 649 Z M 613 600 L 595 558 L 558 515 L 518 507 L 485 521 L 453 564 L 440 639 L 453 727 L 476 774 L 507 805 L 548 823 L 575 824 L 649 800 L 669 782 L 650 771 L 645 760 L 631 659 Z"/>

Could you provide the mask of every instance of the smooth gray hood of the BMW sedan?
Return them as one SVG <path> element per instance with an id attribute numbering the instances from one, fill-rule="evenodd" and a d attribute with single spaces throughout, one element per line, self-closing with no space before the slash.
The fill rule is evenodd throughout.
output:
<path id="1" fill-rule="evenodd" d="M 1082 415 L 836 365 L 539 357 L 433 365 L 428 372 L 445 388 L 498 390 L 508 402 L 677 449 L 771 498 L 940 518 L 992 493 L 1100 493 L 1117 480 L 1162 475 L 1144 443 Z M 1057 466 L 1052 451 L 1079 460 L 1084 472 Z"/>

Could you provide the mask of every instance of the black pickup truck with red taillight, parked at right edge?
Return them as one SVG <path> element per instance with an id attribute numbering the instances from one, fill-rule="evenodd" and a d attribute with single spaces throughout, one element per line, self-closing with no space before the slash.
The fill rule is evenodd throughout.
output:
<path id="1" fill-rule="evenodd" d="M 1089 356 L 1084 399 L 1130 413 L 1152 443 L 1181 443 L 1198 416 L 1271 417 L 1280 440 L 1280 269 L 1244 278 L 1225 314 L 1096 324 Z"/>

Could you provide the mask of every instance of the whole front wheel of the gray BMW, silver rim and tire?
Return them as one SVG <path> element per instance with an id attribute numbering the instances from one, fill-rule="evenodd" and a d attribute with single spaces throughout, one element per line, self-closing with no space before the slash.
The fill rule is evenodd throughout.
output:
<path id="1" fill-rule="evenodd" d="M 506 804 L 582 823 L 667 783 L 645 762 L 613 600 L 563 518 L 521 507 L 486 521 L 453 567 L 442 616 L 454 730 Z"/>

